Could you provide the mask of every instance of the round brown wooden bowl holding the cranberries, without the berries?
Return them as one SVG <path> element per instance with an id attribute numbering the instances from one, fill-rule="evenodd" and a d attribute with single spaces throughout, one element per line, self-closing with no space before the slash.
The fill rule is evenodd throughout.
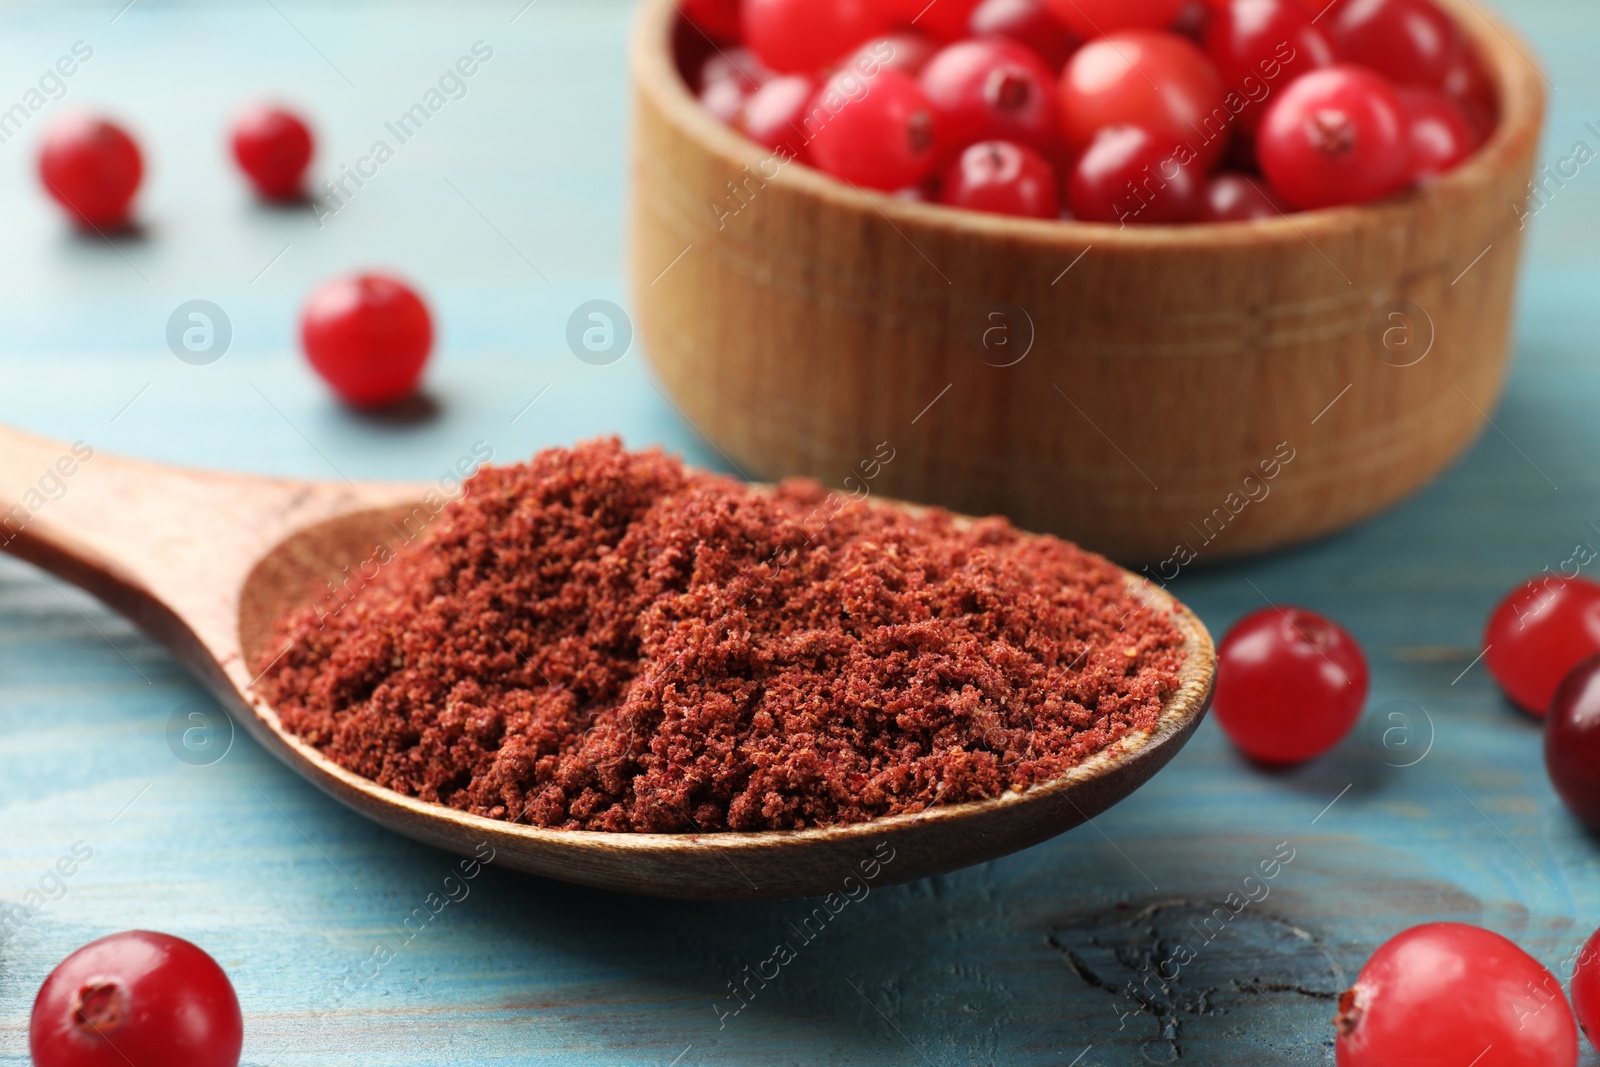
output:
<path id="1" fill-rule="evenodd" d="M 1544 88 L 1504 26 L 1442 2 L 1499 98 L 1469 163 L 1378 205 L 1118 229 L 778 165 L 699 107 L 672 0 L 645 0 L 632 278 L 650 360 L 750 478 L 998 512 L 1155 577 L 1365 518 L 1467 448 L 1507 368 Z"/>

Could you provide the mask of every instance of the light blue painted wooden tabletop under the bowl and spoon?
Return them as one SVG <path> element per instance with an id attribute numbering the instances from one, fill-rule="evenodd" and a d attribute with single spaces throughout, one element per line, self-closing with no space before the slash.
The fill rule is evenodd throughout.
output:
<path id="1" fill-rule="evenodd" d="M 722 466 L 637 349 L 592 366 L 565 341 L 579 304 L 627 302 L 627 5 L 122 5 L 0 14 L 0 109 L 75 42 L 93 50 L 64 99 L 0 144 L 0 422 L 326 478 L 435 478 L 480 442 L 512 461 L 611 432 Z M 1510 16 L 1557 86 L 1546 155 L 1600 147 L 1586 125 L 1600 120 L 1600 8 L 1520 0 Z M 493 54 L 464 94 L 397 144 L 384 123 L 475 42 Z M 394 155 L 320 226 L 254 206 L 221 130 L 259 94 L 317 117 L 323 173 L 378 139 Z M 37 139 L 75 106 L 142 138 L 141 238 L 74 237 L 35 187 Z M 224 963 L 258 1067 L 1331 1064 L 1333 995 L 1405 926 L 1483 923 L 1560 968 L 1600 923 L 1600 843 L 1474 659 L 1507 587 L 1600 549 L 1600 171 L 1533 227 L 1518 362 L 1472 453 L 1355 531 L 1176 587 L 1218 633 L 1264 598 L 1344 622 L 1373 662 L 1357 736 L 1264 774 L 1206 723 L 1094 825 L 874 889 L 752 981 L 738 1014 L 730 985 L 816 902 L 661 902 L 494 869 L 446 883 L 448 856 L 344 811 L 243 736 L 216 761 L 178 758 L 170 725 L 206 705 L 200 688 L 93 600 L 0 560 L 0 901 L 32 905 L 0 928 L 0 1064 L 27 1062 L 54 961 L 141 926 Z M 363 264 L 411 275 L 438 314 L 435 411 L 411 422 L 341 411 L 294 349 L 307 290 Z M 216 363 L 168 350 L 190 299 L 232 323 Z M 962 398 L 946 403 L 960 418 Z M 91 856 L 50 873 L 74 853 Z M 1246 889 L 1275 856 L 1293 859 Z M 424 907 L 446 891 L 442 912 Z M 1259 899 L 1208 923 L 1230 893 Z M 1179 979 L 1128 995 L 1179 941 L 1197 947 Z"/>

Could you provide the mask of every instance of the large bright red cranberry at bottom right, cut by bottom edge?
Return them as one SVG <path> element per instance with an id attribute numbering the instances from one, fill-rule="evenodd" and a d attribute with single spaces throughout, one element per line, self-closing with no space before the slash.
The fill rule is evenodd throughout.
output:
<path id="1" fill-rule="evenodd" d="M 1576 1067 L 1578 1027 L 1538 960 L 1488 929 L 1414 926 L 1339 998 L 1339 1067 Z"/>

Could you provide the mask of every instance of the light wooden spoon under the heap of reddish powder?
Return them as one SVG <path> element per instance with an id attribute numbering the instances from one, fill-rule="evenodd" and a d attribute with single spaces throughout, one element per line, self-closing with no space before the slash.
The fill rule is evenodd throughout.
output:
<path id="1" fill-rule="evenodd" d="M 859 894 L 1014 853 L 1106 811 L 1189 739 L 1211 699 L 1205 625 L 1128 574 L 1186 638 L 1178 693 L 1150 733 L 995 800 L 821 830 L 594 833 L 464 814 L 358 777 L 290 734 L 251 691 L 274 622 L 342 584 L 378 545 L 432 520 L 426 485 L 314 483 L 179 470 L 0 429 L 0 547 L 82 585 L 166 645 L 269 752 L 419 841 L 549 878 L 667 897 Z M 349 568 L 349 571 L 346 571 Z M 357 584 L 352 589 L 358 587 Z"/>

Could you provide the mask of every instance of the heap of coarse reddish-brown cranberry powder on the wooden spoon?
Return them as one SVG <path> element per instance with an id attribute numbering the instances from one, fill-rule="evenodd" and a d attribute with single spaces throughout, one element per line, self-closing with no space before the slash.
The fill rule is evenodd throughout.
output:
<path id="1" fill-rule="evenodd" d="M 614 440 L 482 470 L 354 603 L 282 637 L 259 688 L 339 765 L 619 832 L 1022 789 L 1152 728 L 1182 662 L 1173 621 L 1075 545 Z"/>

